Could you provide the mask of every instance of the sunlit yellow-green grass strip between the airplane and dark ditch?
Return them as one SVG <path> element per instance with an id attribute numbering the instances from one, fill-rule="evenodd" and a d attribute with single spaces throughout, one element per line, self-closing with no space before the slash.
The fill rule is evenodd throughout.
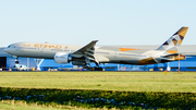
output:
<path id="1" fill-rule="evenodd" d="M 1 87 L 196 91 L 196 72 L 0 72 Z"/>

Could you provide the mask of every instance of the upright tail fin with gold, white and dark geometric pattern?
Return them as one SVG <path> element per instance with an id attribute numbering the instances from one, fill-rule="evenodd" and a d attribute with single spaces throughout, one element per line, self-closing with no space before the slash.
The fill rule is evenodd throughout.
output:
<path id="1" fill-rule="evenodd" d="M 164 44 L 162 44 L 157 50 L 166 50 L 169 53 L 176 53 L 181 46 L 184 36 L 188 27 L 182 27 L 173 36 L 171 36 Z"/>

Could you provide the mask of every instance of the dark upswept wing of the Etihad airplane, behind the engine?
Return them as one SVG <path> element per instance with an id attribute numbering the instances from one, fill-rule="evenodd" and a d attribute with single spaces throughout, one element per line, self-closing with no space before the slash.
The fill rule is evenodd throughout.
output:
<path id="1" fill-rule="evenodd" d="M 95 52 L 95 45 L 98 40 L 93 40 L 88 45 L 84 46 L 83 48 L 76 50 L 75 52 L 72 53 L 72 56 L 76 58 L 85 57 L 85 58 L 94 58 L 94 52 Z"/>

